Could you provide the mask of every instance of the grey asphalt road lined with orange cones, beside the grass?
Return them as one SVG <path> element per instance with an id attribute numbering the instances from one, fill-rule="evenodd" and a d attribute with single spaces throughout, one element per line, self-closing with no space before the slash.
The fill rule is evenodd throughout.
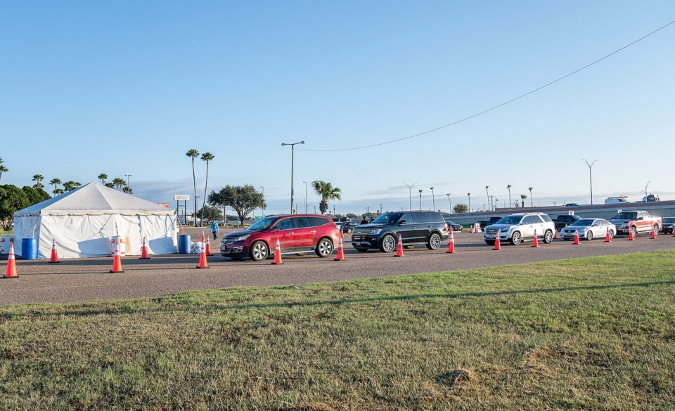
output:
<path id="1" fill-rule="evenodd" d="M 193 239 L 195 239 L 193 235 Z M 448 254 L 447 242 L 436 251 L 426 247 L 404 249 L 403 257 L 380 252 L 359 253 L 352 249 L 349 235 L 343 240 L 345 260 L 321 259 L 314 254 L 284 256 L 283 265 L 271 260 L 232 261 L 216 254 L 207 258 L 209 268 L 196 268 L 198 254 L 169 254 L 141 260 L 122 258 L 124 273 L 111 274 L 112 257 L 60 260 L 16 260 L 18 278 L 0 278 L 0 306 L 27 303 L 63 303 L 94 299 L 136 298 L 176 294 L 193 289 L 219 289 L 235 286 L 300 285 L 309 282 L 335 282 L 356 278 L 378 278 L 412 273 L 435 273 L 504 264 L 573 259 L 584 256 L 617 255 L 675 248 L 675 237 L 638 235 L 634 241 L 615 237 L 612 242 L 596 239 L 539 242 L 519 246 L 502 244 L 499 251 L 485 244 L 480 233 L 456 233 L 455 253 Z M 6 272 L 3 261 L 2 273 Z"/>

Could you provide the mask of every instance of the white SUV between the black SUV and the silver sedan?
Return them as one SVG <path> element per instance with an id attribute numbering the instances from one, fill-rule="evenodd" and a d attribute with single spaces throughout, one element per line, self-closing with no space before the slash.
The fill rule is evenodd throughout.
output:
<path id="1" fill-rule="evenodd" d="M 536 232 L 536 237 L 548 244 L 553 241 L 553 230 L 555 223 L 548 214 L 511 214 L 484 228 L 483 240 L 487 244 L 494 245 L 499 235 L 500 242 L 508 240 L 511 244 L 518 245 L 523 241 L 532 241 Z"/>

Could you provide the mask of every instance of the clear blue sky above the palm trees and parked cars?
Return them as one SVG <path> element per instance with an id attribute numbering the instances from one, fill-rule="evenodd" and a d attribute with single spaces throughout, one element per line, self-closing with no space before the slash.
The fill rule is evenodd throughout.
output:
<path id="1" fill-rule="evenodd" d="M 671 0 L 0 0 L 0 18 L 1 183 L 131 174 L 173 205 L 194 148 L 215 156 L 209 192 L 264 187 L 281 213 L 281 143 L 304 140 L 299 211 L 314 180 L 342 190 L 338 213 L 418 209 L 419 189 L 423 209 L 482 209 L 486 185 L 503 207 L 509 184 L 512 202 L 590 204 L 591 178 L 594 203 L 675 198 L 675 24 L 484 112 L 668 25 Z"/>

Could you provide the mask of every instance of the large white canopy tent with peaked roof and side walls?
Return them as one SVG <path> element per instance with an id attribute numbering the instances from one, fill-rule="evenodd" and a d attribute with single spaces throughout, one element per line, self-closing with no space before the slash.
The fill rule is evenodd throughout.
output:
<path id="1" fill-rule="evenodd" d="M 143 237 L 149 254 L 177 252 L 176 211 L 95 182 L 14 213 L 18 256 L 28 238 L 38 239 L 38 259 L 51 257 L 53 240 L 59 259 L 109 256 L 121 239 L 127 255 L 140 255 Z"/>

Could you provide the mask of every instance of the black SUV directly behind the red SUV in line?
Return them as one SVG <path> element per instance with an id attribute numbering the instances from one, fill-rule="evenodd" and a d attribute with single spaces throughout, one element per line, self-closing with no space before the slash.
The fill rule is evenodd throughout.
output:
<path id="1" fill-rule="evenodd" d="M 369 224 L 354 227 L 352 247 L 359 252 L 380 249 L 392 252 L 399 235 L 406 248 L 425 244 L 428 249 L 438 249 L 449 237 L 448 224 L 438 211 L 397 211 L 385 213 Z"/>

